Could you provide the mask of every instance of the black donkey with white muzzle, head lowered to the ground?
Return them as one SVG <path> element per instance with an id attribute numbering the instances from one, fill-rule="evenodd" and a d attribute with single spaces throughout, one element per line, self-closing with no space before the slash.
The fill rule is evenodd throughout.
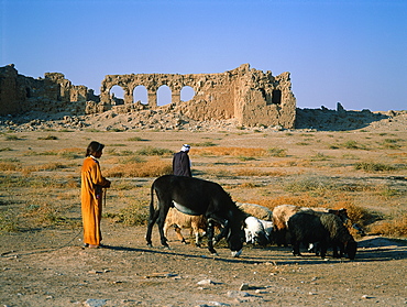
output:
<path id="1" fill-rule="evenodd" d="M 154 194 L 158 204 L 154 205 Z M 153 226 L 158 226 L 161 243 L 168 248 L 164 234 L 164 222 L 170 207 L 190 216 L 204 215 L 207 218 L 208 250 L 217 254 L 213 249 L 213 227 L 223 227 L 218 238 L 226 237 L 232 256 L 239 256 L 244 241 L 244 219 L 248 217 L 232 201 L 223 188 L 212 182 L 175 175 L 164 175 L 156 178 L 151 186 L 151 202 L 147 232 L 145 239 L 152 246 Z"/>

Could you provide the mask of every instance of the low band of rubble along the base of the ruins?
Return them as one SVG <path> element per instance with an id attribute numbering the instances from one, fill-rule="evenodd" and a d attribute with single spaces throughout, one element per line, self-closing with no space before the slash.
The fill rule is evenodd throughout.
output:
<path id="1" fill-rule="evenodd" d="M 346 131 L 358 129 L 407 130 L 407 111 L 371 112 L 328 109 L 297 109 L 295 129 L 306 131 Z M 179 112 L 167 112 L 165 108 L 117 113 L 75 116 L 59 112 L 55 114 L 37 111 L 22 116 L 0 117 L 0 131 L 41 131 L 41 130 L 94 130 L 94 131 L 289 131 L 280 125 L 239 125 L 235 119 L 197 121 Z"/>

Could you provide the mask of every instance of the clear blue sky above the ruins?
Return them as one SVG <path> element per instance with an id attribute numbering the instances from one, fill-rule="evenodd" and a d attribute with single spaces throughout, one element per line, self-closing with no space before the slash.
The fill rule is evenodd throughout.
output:
<path id="1" fill-rule="evenodd" d="M 0 66 L 96 94 L 106 75 L 249 63 L 289 72 L 298 108 L 407 110 L 406 0 L 0 0 Z"/>

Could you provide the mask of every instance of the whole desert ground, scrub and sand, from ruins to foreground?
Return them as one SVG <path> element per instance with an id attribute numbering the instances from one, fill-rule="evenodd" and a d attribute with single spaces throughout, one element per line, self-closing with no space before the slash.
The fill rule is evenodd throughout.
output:
<path id="1" fill-rule="evenodd" d="M 406 112 L 340 130 L 219 122 L 123 130 L 121 116 L 75 127 L 66 118 L 8 120 L 0 121 L 2 306 L 407 305 Z M 112 182 L 97 250 L 81 248 L 79 199 L 92 140 L 106 144 L 100 164 Z M 191 145 L 193 175 L 219 183 L 234 201 L 348 208 L 365 231 L 352 232 L 355 260 L 306 250 L 299 257 L 273 244 L 246 244 L 232 257 L 224 242 L 212 256 L 172 231 L 166 250 L 156 228 L 148 248 L 150 187 L 183 143 Z"/>

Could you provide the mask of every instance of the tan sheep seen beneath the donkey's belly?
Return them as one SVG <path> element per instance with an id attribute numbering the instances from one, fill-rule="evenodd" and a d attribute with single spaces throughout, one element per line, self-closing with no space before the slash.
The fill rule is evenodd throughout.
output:
<path id="1" fill-rule="evenodd" d="M 178 211 L 175 208 L 169 208 L 167 217 L 165 218 L 164 223 L 164 233 L 167 237 L 169 227 L 175 227 L 175 232 L 177 238 L 186 243 L 185 238 L 183 237 L 180 230 L 185 228 L 191 229 L 191 233 L 195 233 L 195 244 L 200 246 L 200 231 L 206 232 L 207 230 L 207 219 L 204 216 L 189 216 Z"/>

